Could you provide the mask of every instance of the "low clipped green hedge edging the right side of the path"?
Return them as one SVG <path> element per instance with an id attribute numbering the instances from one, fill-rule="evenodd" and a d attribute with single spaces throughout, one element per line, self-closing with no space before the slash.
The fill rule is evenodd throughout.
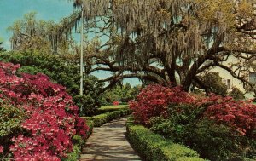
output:
<path id="1" fill-rule="evenodd" d="M 152 161 L 204 161 L 194 150 L 175 144 L 164 139 L 161 135 L 154 134 L 142 125 L 127 122 L 127 138 L 132 147 L 146 160 Z"/>

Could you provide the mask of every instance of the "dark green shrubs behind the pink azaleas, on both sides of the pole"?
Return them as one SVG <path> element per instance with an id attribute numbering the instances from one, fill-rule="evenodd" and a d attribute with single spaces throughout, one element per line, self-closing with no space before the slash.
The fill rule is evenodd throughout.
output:
<path id="1" fill-rule="evenodd" d="M 79 106 L 79 115 L 90 114 L 100 106 L 99 91 L 103 84 L 97 82 L 94 76 L 84 78 L 84 95 L 79 95 L 79 66 L 60 55 L 36 52 L 8 52 L 0 55 L 0 60 L 20 64 L 18 72 L 30 74 L 44 73 L 55 83 L 67 88 L 67 93 L 74 97 Z"/>

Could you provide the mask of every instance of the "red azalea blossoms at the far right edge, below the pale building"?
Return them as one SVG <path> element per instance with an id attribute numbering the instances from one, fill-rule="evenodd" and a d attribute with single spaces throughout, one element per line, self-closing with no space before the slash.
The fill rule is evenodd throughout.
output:
<path id="1" fill-rule="evenodd" d="M 207 118 L 226 124 L 241 135 L 253 136 L 253 130 L 256 129 L 256 106 L 251 102 L 218 95 L 211 95 L 206 101 L 210 104 L 205 113 Z"/>

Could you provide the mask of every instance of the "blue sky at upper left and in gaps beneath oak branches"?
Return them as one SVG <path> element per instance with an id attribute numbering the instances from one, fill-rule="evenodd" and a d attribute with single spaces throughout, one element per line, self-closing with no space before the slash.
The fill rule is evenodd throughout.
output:
<path id="1" fill-rule="evenodd" d="M 11 32 L 7 32 L 7 28 L 12 26 L 15 20 L 22 19 L 24 14 L 32 11 L 37 12 L 38 20 L 58 22 L 73 12 L 73 3 L 71 0 L 0 0 L 0 41 L 5 49 L 10 49 Z M 93 75 L 106 78 L 109 73 L 94 72 Z M 124 83 L 127 82 L 132 86 L 140 84 L 136 78 L 125 79 Z"/>

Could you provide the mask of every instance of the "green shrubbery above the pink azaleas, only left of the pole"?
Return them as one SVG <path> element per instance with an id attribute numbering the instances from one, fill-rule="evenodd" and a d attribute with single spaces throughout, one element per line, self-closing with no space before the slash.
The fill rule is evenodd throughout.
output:
<path id="1" fill-rule="evenodd" d="M 69 94 L 79 93 L 79 66 L 69 63 L 61 56 L 37 52 L 8 52 L 1 54 L 0 60 L 20 64 L 20 72 L 42 72 L 56 83 L 67 87 Z"/>

